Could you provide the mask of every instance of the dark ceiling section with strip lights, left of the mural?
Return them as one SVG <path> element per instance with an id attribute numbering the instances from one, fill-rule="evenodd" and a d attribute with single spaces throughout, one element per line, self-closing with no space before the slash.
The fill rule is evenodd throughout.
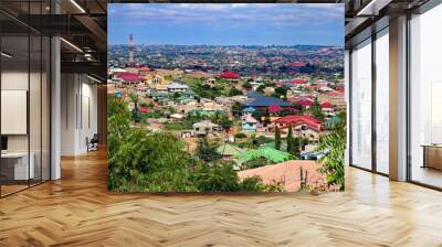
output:
<path id="1" fill-rule="evenodd" d="M 62 72 L 87 73 L 105 82 L 106 6 L 107 0 L 1 0 L 1 33 L 8 42 L 19 41 L 15 50 L 22 46 L 20 36 L 61 36 Z"/>

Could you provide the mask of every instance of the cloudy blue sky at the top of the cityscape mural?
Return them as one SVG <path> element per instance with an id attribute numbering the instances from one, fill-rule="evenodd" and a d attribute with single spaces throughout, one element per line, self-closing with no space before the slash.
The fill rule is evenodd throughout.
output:
<path id="1" fill-rule="evenodd" d="M 344 4 L 109 3 L 109 44 L 344 45 Z"/>

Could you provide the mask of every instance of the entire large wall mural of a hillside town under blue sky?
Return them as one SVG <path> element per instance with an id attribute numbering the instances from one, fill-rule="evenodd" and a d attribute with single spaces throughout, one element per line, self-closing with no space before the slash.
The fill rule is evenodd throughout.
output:
<path id="1" fill-rule="evenodd" d="M 108 189 L 344 190 L 344 4 L 108 4 Z"/>

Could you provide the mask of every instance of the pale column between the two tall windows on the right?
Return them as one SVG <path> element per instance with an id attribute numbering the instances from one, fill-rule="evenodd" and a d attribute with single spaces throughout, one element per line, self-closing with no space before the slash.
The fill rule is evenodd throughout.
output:
<path id="1" fill-rule="evenodd" d="M 390 169 L 391 180 L 407 180 L 407 17 L 390 21 Z"/>

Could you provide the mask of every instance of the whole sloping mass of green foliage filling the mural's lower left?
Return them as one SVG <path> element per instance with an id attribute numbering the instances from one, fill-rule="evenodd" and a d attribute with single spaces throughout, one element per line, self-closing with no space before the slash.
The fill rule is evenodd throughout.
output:
<path id="1" fill-rule="evenodd" d="M 170 133 L 129 127 L 127 105 L 108 101 L 108 189 L 124 192 L 271 192 L 261 178 L 241 180 L 231 162 L 196 160 Z"/>

